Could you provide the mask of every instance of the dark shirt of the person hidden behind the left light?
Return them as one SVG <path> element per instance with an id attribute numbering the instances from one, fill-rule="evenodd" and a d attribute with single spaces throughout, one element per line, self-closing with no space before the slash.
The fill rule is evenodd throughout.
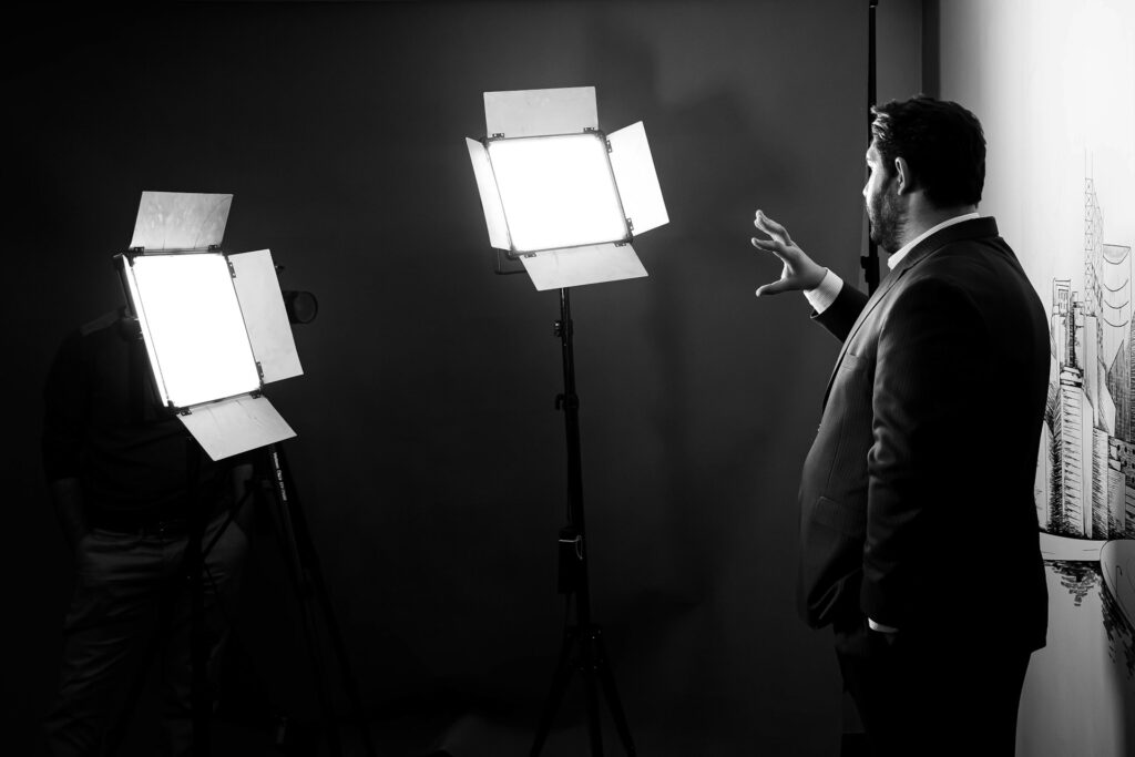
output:
<path id="1" fill-rule="evenodd" d="M 159 405 L 136 326 L 109 313 L 64 339 L 45 386 L 43 466 L 78 478 L 87 516 L 146 521 L 185 514 L 190 451 L 209 510 L 229 496 L 233 461 L 215 463 Z"/>

